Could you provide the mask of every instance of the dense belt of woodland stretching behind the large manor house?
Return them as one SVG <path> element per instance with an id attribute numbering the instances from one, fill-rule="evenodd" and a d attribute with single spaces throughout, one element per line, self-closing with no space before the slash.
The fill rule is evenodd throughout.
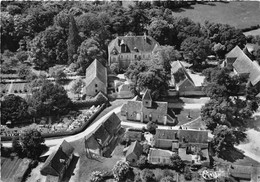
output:
<path id="1" fill-rule="evenodd" d="M 245 36 L 229 25 L 174 17 L 173 7 L 185 2 L 120 3 L 23 2 L 2 3 L 1 51 L 25 51 L 39 69 L 55 64 L 75 64 L 83 74 L 97 58 L 105 63 L 108 43 L 117 35 L 147 32 L 161 45 L 174 46 L 195 65 L 212 53 L 223 57 L 234 46 L 243 46 Z M 39 22 L 39 23 L 38 23 Z"/>

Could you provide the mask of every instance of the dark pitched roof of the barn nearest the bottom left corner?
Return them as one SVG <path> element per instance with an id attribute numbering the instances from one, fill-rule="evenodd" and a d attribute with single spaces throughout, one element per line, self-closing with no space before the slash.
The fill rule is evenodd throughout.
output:
<path id="1" fill-rule="evenodd" d="M 41 168 L 43 171 L 45 168 L 50 167 L 56 172 L 56 175 L 62 175 L 62 169 L 66 166 L 70 155 L 73 153 L 74 148 L 66 141 L 63 140 L 57 151 L 53 152 L 45 161 Z M 64 160 L 65 162 L 62 162 Z"/>

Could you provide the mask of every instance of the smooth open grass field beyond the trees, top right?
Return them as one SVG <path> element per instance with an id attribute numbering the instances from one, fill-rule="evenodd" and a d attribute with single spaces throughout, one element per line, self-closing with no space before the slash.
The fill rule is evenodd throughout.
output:
<path id="1" fill-rule="evenodd" d="M 189 9 L 181 8 L 174 12 L 175 16 L 189 17 L 195 22 L 205 20 L 224 23 L 237 28 L 247 28 L 260 24 L 260 2 L 209 2 L 195 4 Z"/>

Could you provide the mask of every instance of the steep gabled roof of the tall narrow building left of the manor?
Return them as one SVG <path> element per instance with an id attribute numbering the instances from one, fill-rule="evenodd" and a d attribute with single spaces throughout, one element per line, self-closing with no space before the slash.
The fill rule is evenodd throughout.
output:
<path id="1" fill-rule="evenodd" d="M 107 85 L 107 68 L 95 59 L 86 69 L 86 87 L 98 78 L 104 85 Z"/>

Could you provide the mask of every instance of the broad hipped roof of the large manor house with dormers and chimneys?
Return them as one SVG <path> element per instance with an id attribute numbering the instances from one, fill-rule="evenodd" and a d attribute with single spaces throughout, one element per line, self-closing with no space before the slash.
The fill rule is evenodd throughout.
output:
<path id="1" fill-rule="evenodd" d="M 146 37 L 146 38 L 145 38 Z M 155 45 L 159 43 L 150 36 L 118 36 L 112 40 L 108 45 L 108 52 L 111 53 L 114 49 L 116 52 L 121 53 L 120 44 L 127 46 L 128 52 L 152 52 Z"/>

